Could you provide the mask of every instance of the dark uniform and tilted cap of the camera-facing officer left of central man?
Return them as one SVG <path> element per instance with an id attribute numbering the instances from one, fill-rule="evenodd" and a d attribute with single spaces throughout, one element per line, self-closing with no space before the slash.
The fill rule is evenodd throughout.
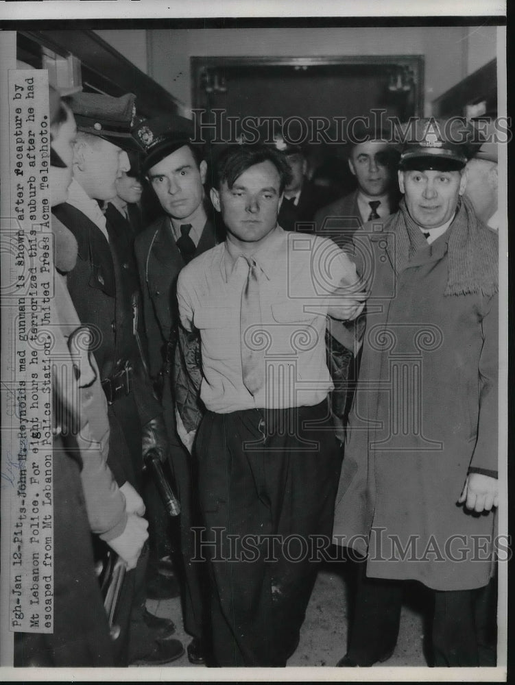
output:
<path id="1" fill-rule="evenodd" d="M 187 123 L 184 130 L 170 129 L 167 120 L 156 118 L 136 127 L 134 135 L 143 143 L 147 157 L 143 160 L 145 173 L 174 151 L 188 143 Z M 210 209 L 212 212 L 212 208 Z M 202 228 L 200 240 L 190 258 L 214 247 L 215 225 L 209 214 Z M 188 647 L 192 663 L 204 662 L 202 572 L 204 564 L 191 562 L 195 556 L 194 537 L 191 527 L 199 523 L 195 519 L 196 490 L 192 483 L 193 461 L 177 434 L 175 399 L 172 399 L 170 374 L 176 347 L 178 315 L 176 306 L 176 282 L 186 262 L 173 238 L 169 216 L 161 216 L 147 227 L 134 243 L 141 288 L 143 312 L 149 345 L 149 364 L 152 377 L 160 377 L 163 393 L 163 409 L 169 434 L 170 460 L 181 503 L 181 553 L 184 569 L 184 628 L 193 636 Z M 175 394 L 175 390 L 173 390 Z"/>

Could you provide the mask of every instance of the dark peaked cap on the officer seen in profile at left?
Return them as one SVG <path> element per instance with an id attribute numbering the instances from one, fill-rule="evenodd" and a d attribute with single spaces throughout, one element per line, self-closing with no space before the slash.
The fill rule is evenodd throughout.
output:
<path id="1" fill-rule="evenodd" d="M 131 134 L 136 119 L 136 96 L 132 92 L 121 97 L 77 92 L 69 103 L 78 131 L 104 138 L 122 149 L 141 149 Z"/>

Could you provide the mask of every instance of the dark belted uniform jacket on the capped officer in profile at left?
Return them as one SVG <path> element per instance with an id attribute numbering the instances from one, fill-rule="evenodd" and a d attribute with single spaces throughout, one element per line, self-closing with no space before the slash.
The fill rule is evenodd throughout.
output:
<path id="1" fill-rule="evenodd" d="M 53 209 L 78 243 L 75 268 L 69 272 L 68 289 L 82 324 L 94 333 L 93 354 L 101 379 L 123 369 L 134 369 L 133 387 L 109 406 L 108 465 L 118 484 L 134 486 L 141 473 L 141 426 L 162 412 L 143 369 L 134 336 L 132 292 L 115 245 L 75 207 L 64 203 Z"/>

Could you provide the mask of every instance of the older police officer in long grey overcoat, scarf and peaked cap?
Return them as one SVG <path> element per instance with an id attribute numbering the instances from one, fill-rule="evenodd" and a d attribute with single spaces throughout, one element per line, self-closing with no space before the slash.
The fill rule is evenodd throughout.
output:
<path id="1" fill-rule="evenodd" d="M 355 235 L 370 299 L 334 536 L 362 560 L 340 667 L 390 658 L 405 580 L 434 600 L 433 665 L 486 665 L 477 612 L 499 503 L 499 258 L 464 197 L 476 146 L 470 123 L 410 122 L 399 210 Z"/>

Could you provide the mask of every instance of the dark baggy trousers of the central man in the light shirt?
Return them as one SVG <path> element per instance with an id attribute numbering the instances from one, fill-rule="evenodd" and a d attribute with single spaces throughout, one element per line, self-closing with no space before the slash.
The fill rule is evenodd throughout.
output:
<path id="1" fill-rule="evenodd" d="M 341 455 L 328 403 L 207 412 L 197 453 L 215 661 L 285 666 L 318 570 L 311 547 L 333 525 Z"/>

